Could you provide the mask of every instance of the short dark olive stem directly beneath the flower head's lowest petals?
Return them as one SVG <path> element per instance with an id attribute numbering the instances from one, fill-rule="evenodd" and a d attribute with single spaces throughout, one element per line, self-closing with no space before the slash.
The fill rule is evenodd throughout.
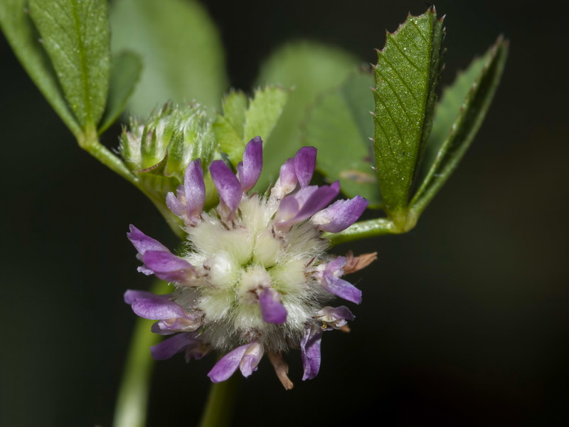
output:
<path id="1" fill-rule="evenodd" d="M 227 381 L 213 383 L 209 389 L 208 401 L 203 409 L 200 427 L 225 427 L 230 426 L 239 375 L 235 374 Z"/>

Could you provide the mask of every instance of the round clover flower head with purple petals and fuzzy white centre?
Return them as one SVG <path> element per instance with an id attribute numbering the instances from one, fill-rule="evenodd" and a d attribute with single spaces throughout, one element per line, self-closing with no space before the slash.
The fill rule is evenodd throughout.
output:
<path id="1" fill-rule="evenodd" d="M 245 147 L 234 174 L 222 160 L 209 172 L 219 194 L 214 211 L 203 211 L 206 186 L 201 160 L 191 161 L 184 183 L 166 204 L 185 224 L 187 251 L 171 253 L 158 241 L 130 226 L 128 237 L 143 265 L 139 271 L 174 284 L 169 295 L 128 290 L 134 312 L 156 320 L 152 331 L 171 335 L 151 348 L 155 359 L 183 352 L 186 360 L 216 350 L 225 354 L 211 369 L 212 381 L 224 381 L 237 369 L 257 370 L 264 354 L 285 388 L 292 388 L 282 354 L 300 349 L 303 379 L 320 367 L 321 336 L 348 330 L 353 314 L 328 304 L 335 297 L 361 302 L 361 291 L 343 280 L 375 254 L 329 255 L 324 232 L 337 233 L 363 213 L 361 196 L 331 202 L 339 183 L 311 186 L 316 149 L 303 147 L 280 169 L 270 193 L 251 192 L 262 169 L 262 140 Z"/>

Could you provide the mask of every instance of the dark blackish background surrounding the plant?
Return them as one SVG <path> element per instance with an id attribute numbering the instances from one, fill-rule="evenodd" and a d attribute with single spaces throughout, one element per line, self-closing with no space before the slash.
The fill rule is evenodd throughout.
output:
<path id="1" fill-rule="evenodd" d="M 384 30 L 424 1 L 207 1 L 233 86 L 310 38 L 376 60 Z M 292 391 L 263 361 L 243 426 L 562 426 L 568 417 L 568 56 L 565 2 L 444 1 L 444 83 L 499 33 L 494 105 L 452 179 L 358 278 L 351 334 L 327 333 L 319 376 Z M 174 245 L 142 194 L 77 147 L 0 39 L 0 424 L 110 426 L 134 315 L 129 223 Z M 159 100 L 157 100 L 159 101 Z M 116 147 L 119 127 L 105 134 Z M 365 246 L 365 247 L 364 247 Z M 349 246 L 335 248 L 344 253 Z M 198 419 L 214 360 L 156 365 L 150 426 Z"/>

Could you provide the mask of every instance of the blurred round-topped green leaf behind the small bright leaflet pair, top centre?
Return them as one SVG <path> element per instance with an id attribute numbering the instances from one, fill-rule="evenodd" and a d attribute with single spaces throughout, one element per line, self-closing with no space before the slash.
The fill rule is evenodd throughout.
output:
<path id="1" fill-rule="evenodd" d="M 266 144 L 263 172 L 256 188 L 265 191 L 279 176 L 280 166 L 302 147 L 301 124 L 317 95 L 336 88 L 356 68 L 358 60 L 338 48 L 297 42 L 277 49 L 262 65 L 257 85 L 294 88 Z"/>

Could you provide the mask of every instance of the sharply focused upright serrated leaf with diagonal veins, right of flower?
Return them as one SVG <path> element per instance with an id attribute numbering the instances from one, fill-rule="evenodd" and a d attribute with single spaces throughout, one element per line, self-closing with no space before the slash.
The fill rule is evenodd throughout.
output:
<path id="1" fill-rule="evenodd" d="M 407 209 L 415 168 L 427 141 L 440 75 L 442 21 L 435 9 L 409 16 L 387 35 L 375 68 L 374 147 L 385 210 Z"/>

